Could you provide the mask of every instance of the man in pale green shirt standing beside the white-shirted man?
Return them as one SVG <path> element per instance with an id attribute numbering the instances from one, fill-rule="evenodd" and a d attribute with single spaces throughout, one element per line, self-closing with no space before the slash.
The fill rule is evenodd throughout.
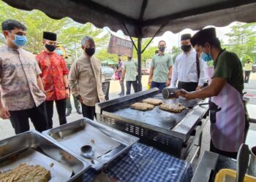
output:
<path id="1" fill-rule="evenodd" d="M 165 54 L 165 41 L 159 41 L 159 52 L 151 60 L 151 68 L 148 76 L 148 85 L 157 87 L 161 92 L 170 86 L 172 76 L 173 60 L 170 55 Z"/>

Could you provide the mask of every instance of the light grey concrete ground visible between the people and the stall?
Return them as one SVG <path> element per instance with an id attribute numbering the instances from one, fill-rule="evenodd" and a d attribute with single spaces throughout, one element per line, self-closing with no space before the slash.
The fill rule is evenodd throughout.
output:
<path id="1" fill-rule="evenodd" d="M 249 84 L 244 84 L 245 86 L 244 92 L 247 92 L 247 94 L 249 95 L 256 95 L 256 74 L 252 74 L 250 79 L 251 80 L 249 81 Z M 147 81 L 148 81 L 148 76 L 143 76 L 142 77 L 143 90 L 146 90 Z M 110 81 L 110 99 L 118 98 L 118 93 L 120 91 L 121 91 L 121 87 L 118 81 Z M 251 98 L 249 103 L 256 104 L 256 98 Z M 72 114 L 67 116 L 68 122 L 73 122 L 75 120 L 82 118 L 82 115 L 79 115 L 76 113 L 73 102 L 72 102 L 72 108 L 73 108 Z M 53 127 L 57 127 L 57 126 L 59 126 L 59 119 L 56 112 L 56 108 L 54 108 Z M 31 128 L 34 128 L 32 124 L 31 124 Z M 201 154 L 203 154 L 203 151 L 206 151 L 209 149 L 209 141 L 210 141 L 209 128 L 210 128 L 210 123 L 208 122 L 206 124 L 206 127 L 203 130 L 203 141 L 202 141 L 203 144 L 202 144 Z M 251 124 L 250 129 L 256 130 L 256 124 Z M 12 128 L 12 124 L 10 123 L 10 120 L 0 119 L 0 140 L 4 138 L 9 138 L 12 135 L 15 135 L 15 132 Z M 189 155 L 187 161 L 189 162 L 191 158 L 192 158 L 192 155 Z M 195 158 L 195 161 L 192 164 L 193 167 L 197 165 L 199 159 L 200 158 Z"/>

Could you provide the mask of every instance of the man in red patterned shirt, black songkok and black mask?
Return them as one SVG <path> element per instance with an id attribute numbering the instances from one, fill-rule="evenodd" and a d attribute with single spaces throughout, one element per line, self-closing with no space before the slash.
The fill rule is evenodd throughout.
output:
<path id="1" fill-rule="evenodd" d="M 42 70 L 41 78 L 46 92 L 46 110 L 48 115 L 48 126 L 53 127 L 53 102 L 56 103 L 59 115 L 59 124 L 66 124 L 66 98 L 69 98 L 69 87 L 67 74 L 69 70 L 67 64 L 56 50 L 56 33 L 44 31 L 42 44 L 45 47 L 37 55 L 37 63 Z"/>

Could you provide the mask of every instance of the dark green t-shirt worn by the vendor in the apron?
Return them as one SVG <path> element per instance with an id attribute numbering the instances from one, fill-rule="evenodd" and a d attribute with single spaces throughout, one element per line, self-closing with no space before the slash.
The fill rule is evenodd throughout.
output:
<path id="1" fill-rule="evenodd" d="M 224 51 L 214 63 L 213 78 L 227 79 L 227 83 L 238 92 L 244 90 L 243 67 L 238 56 L 234 52 Z"/>

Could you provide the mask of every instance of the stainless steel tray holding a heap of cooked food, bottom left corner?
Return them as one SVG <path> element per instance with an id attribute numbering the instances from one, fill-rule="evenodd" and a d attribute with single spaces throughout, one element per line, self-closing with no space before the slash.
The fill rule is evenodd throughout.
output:
<path id="1" fill-rule="evenodd" d="M 0 170 L 12 170 L 22 163 L 50 170 L 50 181 L 74 181 L 91 166 L 37 131 L 0 141 Z"/>

